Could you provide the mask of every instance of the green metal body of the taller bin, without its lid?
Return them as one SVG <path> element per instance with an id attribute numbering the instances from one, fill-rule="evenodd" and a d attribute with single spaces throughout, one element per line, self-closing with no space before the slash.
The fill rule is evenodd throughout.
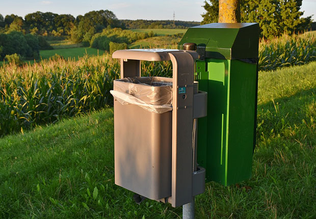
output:
<path id="1" fill-rule="evenodd" d="M 207 117 L 198 121 L 198 164 L 206 169 L 207 181 L 230 185 L 249 179 L 256 64 L 206 59 L 197 61 L 196 66 L 199 90 L 207 92 L 208 106 Z"/>

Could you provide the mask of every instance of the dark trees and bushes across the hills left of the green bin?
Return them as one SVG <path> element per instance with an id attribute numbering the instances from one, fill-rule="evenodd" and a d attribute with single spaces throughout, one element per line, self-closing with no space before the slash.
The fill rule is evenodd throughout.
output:
<path id="1" fill-rule="evenodd" d="M 90 11 L 76 18 L 70 14 L 35 12 L 24 18 L 0 14 L 0 59 L 32 60 L 39 50 L 52 49 L 46 40 L 69 39 L 85 47 L 111 51 L 124 49 L 153 32 L 137 33 L 128 29 L 187 29 L 199 22 L 173 20 L 118 20 L 109 10 Z M 46 39 L 46 40 L 45 40 Z M 14 55 L 14 56 L 13 56 Z"/>

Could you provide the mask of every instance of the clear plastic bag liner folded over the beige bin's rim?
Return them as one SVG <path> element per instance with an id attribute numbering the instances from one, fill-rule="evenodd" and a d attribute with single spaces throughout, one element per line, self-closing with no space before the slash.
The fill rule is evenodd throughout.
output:
<path id="1" fill-rule="evenodd" d="M 121 104 L 135 104 L 152 113 L 172 111 L 172 78 L 126 77 L 114 80 L 113 97 Z"/>

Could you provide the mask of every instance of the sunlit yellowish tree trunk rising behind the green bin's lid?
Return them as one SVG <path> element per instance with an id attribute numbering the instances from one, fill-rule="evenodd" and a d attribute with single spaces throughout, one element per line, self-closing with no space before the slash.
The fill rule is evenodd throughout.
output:
<path id="1" fill-rule="evenodd" d="M 240 23 L 240 0 L 219 1 L 219 23 Z"/>

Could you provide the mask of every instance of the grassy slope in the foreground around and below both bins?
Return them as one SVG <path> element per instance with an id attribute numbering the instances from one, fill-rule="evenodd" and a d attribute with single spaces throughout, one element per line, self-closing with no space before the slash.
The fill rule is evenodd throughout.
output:
<path id="1" fill-rule="evenodd" d="M 253 176 L 211 182 L 196 218 L 316 218 L 316 62 L 259 73 Z M 0 139 L 0 218 L 179 218 L 114 184 L 111 108 Z"/>

